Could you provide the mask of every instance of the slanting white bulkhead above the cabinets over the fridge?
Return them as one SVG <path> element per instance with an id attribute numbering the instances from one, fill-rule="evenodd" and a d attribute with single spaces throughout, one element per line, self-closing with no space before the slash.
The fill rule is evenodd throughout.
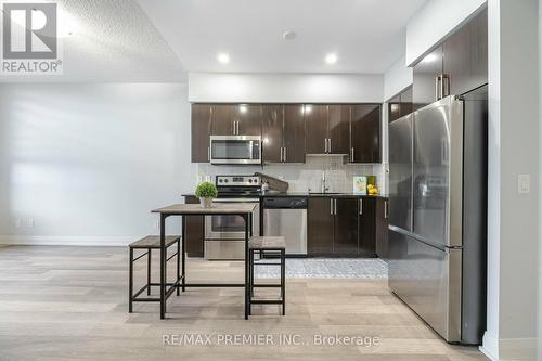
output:
<path id="1" fill-rule="evenodd" d="M 486 0 L 429 0 L 406 26 L 405 65 L 415 63 L 485 3 Z"/>

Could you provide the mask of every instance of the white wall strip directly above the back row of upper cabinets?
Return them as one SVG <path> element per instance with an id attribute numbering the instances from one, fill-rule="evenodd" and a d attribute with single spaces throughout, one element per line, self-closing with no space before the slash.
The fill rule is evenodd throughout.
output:
<path id="1" fill-rule="evenodd" d="M 190 73 L 190 102 L 382 103 L 383 75 Z"/>

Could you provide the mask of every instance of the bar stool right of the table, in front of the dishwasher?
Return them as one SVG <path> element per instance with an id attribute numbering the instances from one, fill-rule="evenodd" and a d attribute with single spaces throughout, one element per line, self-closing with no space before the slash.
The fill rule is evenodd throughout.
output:
<path id="1" fill-rule="evenodd" d="M 280 253 L 280 262 L 257 262 L 255 263 L 254 255 L 261 255 L 266 252 Z M 286 312 L 286 242 L 282 236 L 254 236 L 248 241 L 248 262 L 249 262 L 249 289 L 250 297 L 248 298 L 248 314 L 251 314 L 253 305 L 282 305 L 282 314 Z M 254 266 L 279 266 L 281 267 L 281 283 L 280 284 L 256 284 L 254 282 Z M 255 299 L 254 288 L 256 287 L 276 287 L 281 288 L 280 299 Z"/>

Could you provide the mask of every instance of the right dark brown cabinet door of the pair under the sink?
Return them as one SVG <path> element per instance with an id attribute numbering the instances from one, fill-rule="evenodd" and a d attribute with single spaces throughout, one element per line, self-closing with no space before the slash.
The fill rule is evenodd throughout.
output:
<path id="1" fill-rule="evenodd" d="M 358 198 L 335 198 L 333 253 L 358 254 Z"/>

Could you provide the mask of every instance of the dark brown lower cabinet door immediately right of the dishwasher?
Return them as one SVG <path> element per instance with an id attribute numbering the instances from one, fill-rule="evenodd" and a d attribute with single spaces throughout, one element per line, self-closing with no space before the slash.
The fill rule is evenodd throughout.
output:
<path id="1" fill-rule="evenodd" d="M 333 253 L 333 198 L 309 198 L 307 229 L 308 254 L 331 255 Z"/>

